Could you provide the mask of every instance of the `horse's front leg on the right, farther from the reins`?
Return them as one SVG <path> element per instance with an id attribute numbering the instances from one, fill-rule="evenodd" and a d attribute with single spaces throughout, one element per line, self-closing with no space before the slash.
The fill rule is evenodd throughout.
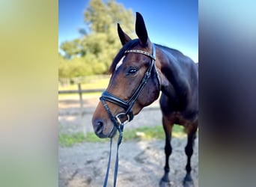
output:
<path id="1" fill-rule="evenodd" d="M 186 163 L 186 176 L 183 180 L 184 186 L 193 186 L 193 180 L 191 177 L 191 156 L 193 154 L 193 146 L 196 138 L 196 131 L 198 129 L 198 124 L 192 124 L 188 127 L 187 133 L 188 133 L 188 143 L 185 147 L 185 153 L 187 156 L 187 163 Z"/>

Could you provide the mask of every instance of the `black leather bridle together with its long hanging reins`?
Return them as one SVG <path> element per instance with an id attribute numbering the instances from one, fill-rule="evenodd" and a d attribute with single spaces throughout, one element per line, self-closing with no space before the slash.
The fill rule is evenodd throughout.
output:
<path id="1" fill-rule="evenodd" d="M 114 187 L 116 186 L 116 180 L 118 177 L 118 150 L 119 150 L 119 146 L 121 144 L 122 138 L 123 138 L 123 131 L 124 131 L 124 122 L 121 122 L 119 117 L 124 114 L 125 116 L 127 116 L 127 121 L 131 121 L 133 119 L 132 106 L 135 104 L 135 101 L 138 99 L 139 94 L 143 90 L 144 86 L 147 84 L 148 79 L 150 79 L 153 67 L 156 72 L 156 77 L 157 77 L 157 80 L 158 80 L 159 86 L 160 86 L 159 73 L 156 70 L 156 64 L 155 64 L 155 61 L 156 61 L 155 45 L 152 43 L 152 55 L 149 52 L 144 52 L 144 51 L 138 50 L 138 49 L 127 50 L 124 52 L 124 54 L 130 53 L 130 52 L 146 55 L 147 57 L 151 58 L 151 60 L 152 60 L 150 67 L 148 67 L 146 73 L 144 73 L 144 77 L 141 80 L 140 85 L 138 85 L 138 88 L 135 90 L 135 92 L 132 94 L 132 96 L 129 98 L 128 101 L 125 101 L 124 99 L 121 99 L 118 96 L 115 96 L 112 93 L 109 93 L 108 91 L 104 91 L 102 96 L 100 96 L 100 101 L 103 102 L 104 108 L 106 109 L 106 111 L 109 114 L 110 119 L 114 123 L 115 127 L 113 128 L 113 131 L 115 131 L 115 128 L 116 128 L 116 129 L 118 129 L 118 132 L 119 132 L 117 154 L 116 154 L 116 160 L 115 160 Z M 114 103 L 115 105 L 121 106 L 121 108 L 124 108 L 125 112 L 114 116 L 112 114 L 112 112 L 110 111 L 109 106 L 106 104 L 106 101 L 109 101 L 109 102 Z M 104 187 L 106 187 L 106 185 L 108 183 L 109 168 L 110 168 L 110 162 L 111 162 L 111 153 L 112 153 L 112 138 L 110 139 L 109 163 L 108 163 L 106 177 L 105 177 L 105 181 L 104 181 L 104 185 L 103 185 Z"/>

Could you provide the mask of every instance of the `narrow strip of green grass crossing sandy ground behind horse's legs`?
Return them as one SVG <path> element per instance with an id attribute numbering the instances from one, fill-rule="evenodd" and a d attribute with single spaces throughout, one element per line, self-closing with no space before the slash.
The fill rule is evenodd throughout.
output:
<path id="1" fill-rule="evenodd" d="M 172 137 L 183 138 L 185 137 L 183 132 L 183 126 L 175 125 L 172 131 Z M 118 138 L 118 135 L 115 136 L 115 139 Z M 165 133 L 162 129 L 162 125 L 153 126 L 153 127 L 139 127 L 138 129 L 125 130 L 124 129 L 124 138 L 123 141 L 134 141 L 134 140 L 158 140 L 165 139 Z M 82 142 L 106 142 L 109 141 L 109 138 L 98 138 L 94 132 L 88 132 L 86 137 L 83 132 L 76 132 L 73 134 L 59 134 L 58 143 L 64 147 L 71 147 L 75 144 Z"/>

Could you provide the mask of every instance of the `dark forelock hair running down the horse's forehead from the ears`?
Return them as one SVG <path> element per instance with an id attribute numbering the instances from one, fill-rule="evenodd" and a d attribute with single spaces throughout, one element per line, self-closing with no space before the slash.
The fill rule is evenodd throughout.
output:
<path id="1" fill-rule="evenodd" d="M 124 46 L 118 52 L 118 55 L 115 56 L 112 65 L 109 67 L 109 74 L 112 74 L 115 71 L 115 67 L 118 64 L 118 61 L 120 61 L 121 58 L 124 56 L 124 52 L 130 49 L 132 46 L 135 46 L 135 44 L 138 44 L 138 39 L 130 40 L 128 43 L 124 44 Z"/>

